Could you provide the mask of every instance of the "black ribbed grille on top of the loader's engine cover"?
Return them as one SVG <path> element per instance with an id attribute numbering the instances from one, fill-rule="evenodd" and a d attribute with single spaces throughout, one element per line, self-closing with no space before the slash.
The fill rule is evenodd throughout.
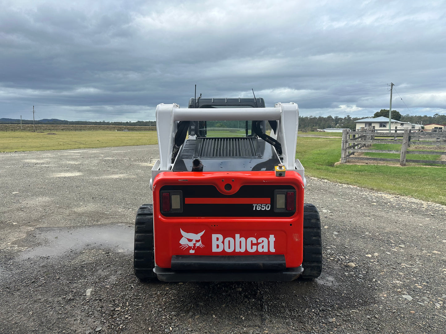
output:
<path id="1" fill-rule="evenodd" d="M 257 138 L 198 138 L 197 158 L 259 158 Z"/>

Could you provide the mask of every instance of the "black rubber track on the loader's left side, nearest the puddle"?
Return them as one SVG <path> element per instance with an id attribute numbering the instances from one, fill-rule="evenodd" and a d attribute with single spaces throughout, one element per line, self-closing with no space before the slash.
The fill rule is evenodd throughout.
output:
<path id="1" fill-rule="evenodd" d="M 135 248 L 133 269 L 140 279 L 156 278 L 153 273 L 155 256 L 153 251 L 153 205 L 143 204 L 135 219 Z"/>

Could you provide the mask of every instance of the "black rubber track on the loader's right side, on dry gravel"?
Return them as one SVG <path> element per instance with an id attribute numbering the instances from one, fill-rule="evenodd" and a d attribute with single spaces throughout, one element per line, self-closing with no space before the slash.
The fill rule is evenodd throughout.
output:
<path id="1" fill-rule="evenodd" d="M 301 277 L 311 279 L 322 273 L 321 219 L 313 204 L 304 204 L 303 262 Z"/>

